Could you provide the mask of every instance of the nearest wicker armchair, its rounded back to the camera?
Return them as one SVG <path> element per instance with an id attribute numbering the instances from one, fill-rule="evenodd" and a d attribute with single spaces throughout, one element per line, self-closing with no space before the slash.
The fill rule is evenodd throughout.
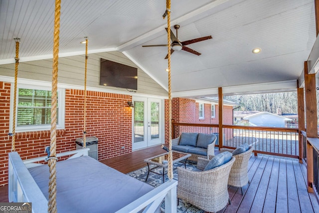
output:
<path id="1" fill-rule="evenodd" d="M 197 168 L 203 170 L 209 160 L 198 158 Z M 226 164 L 207 171 L 190 171 L 178 167 L 177 198 L 207 212 L 222 210 L 229 201 L 227 182 L 235 157 Z"/>

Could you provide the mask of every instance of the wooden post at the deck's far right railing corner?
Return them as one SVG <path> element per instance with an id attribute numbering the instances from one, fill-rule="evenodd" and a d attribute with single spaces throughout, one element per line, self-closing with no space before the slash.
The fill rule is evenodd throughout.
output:
<path id="1" fill-rule="evenodd" d="M 303 144 L 303 135 L 301 134 L 301 131 L 306 131 L 305 128 L 305 96 L 304 96 L 304 88 L 299 87 L 299 81 L 297 80 L 297 95 L 298 95 L 298 141 L 299 141 L 299 162 L 303 163 L 304 158 L 304 149 L 307 149 L 307 147 L 304 147 Z"/>

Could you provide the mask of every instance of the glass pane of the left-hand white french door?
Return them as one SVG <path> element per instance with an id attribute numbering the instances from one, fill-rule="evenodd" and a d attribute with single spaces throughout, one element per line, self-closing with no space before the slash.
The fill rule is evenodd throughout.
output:
<path id="1" fill-rule="evenodd" d="M 144 102 L 134 101 L 134 143 L 144 141 Z"/>

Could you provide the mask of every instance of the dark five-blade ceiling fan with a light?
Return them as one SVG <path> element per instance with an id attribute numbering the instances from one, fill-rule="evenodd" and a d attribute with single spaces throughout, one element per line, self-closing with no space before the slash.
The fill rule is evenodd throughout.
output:
<path id="1" fill-rule="evenodd" d="M 197 51 L 195 51 L 195 50 L 193 50 L 185 45 L 213 38 L 211 35 L 209 35 L 209 36 L 205 36 L 205 37 L 194 38 L 194 39 L 187 40 L 187 41 L 179 41 L 178 34 L 177 34 L 177 30 L 179 29 L 179 25 L 175 24 L 174 28 L 176 29 L 176 36 L 170 30 L 170 39 L 172 41 L 172 43 L 170 44 L 171 45 L 170 54 L 172 54 L 174 51 L 185 50 L 185 51 L 193 53 L 195 55 L 200 55 L 201 53 L 199 53 L 199 52 L 197 52 Z M 165 28 L 165 29 L 167 31 L 167 28 Z M 167 44 L 156 44 L 156 45 L 144 45 L 142 47 L 150 47 L 150 46 L 168 46 L 168 45 Z M 168 54 L 166 55 L 165 59 L 167 59 L 167 57 L 168 57 Z"/>

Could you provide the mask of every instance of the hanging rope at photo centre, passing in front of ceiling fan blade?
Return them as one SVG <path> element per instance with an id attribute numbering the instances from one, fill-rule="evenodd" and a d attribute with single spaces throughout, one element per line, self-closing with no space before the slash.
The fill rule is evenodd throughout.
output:
<path id="1" fill-rule="evenodd" d="M 168 59 L 168 138 L 169 138 L 169 152 L 168 152 L 168 178 L 169 180 L 173 179 L 173 157 L 171 151 L 171 88 L 170 88 L 170 0 L 166 0 L 166 11 L 167 13 L 167 59 Z"/>

